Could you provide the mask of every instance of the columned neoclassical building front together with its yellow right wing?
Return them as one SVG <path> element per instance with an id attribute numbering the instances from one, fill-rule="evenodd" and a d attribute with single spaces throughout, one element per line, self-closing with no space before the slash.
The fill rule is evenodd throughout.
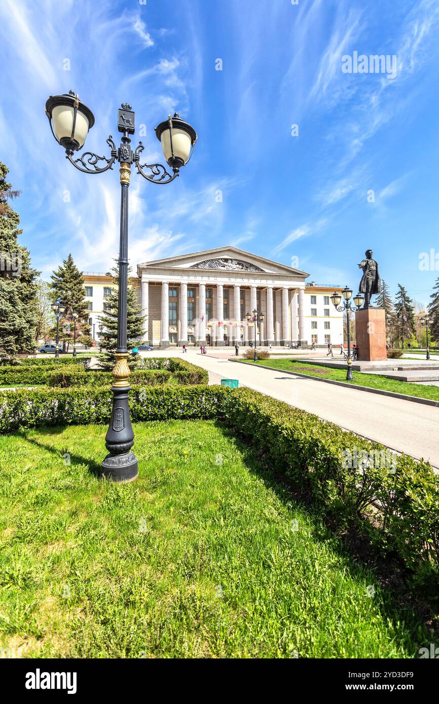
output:
<path id="1" fill-rule="evenodd" d="M 144 341 L 154 346 L 245 345 L 254 340 L 246 313 L 255 308 L 264 313 L 258 344 L 343 340 L 342 314 L 329 301 L 339 285 L 306 284 L 307 272 L 237 247 L 147 261 L 137 275 Z"/>

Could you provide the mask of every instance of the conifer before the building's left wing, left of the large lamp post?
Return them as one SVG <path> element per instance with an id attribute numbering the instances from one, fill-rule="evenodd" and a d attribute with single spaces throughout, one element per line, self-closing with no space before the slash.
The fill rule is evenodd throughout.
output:
<path id="1" fill-rule="evenodd" d="M 73 256 L 68 255 L 63 264 L 51 275 L 51 295 L 53 301 L 61 298 L 66 310 L 59 321 L 59 339 L 63 343 L 63 352 L 66 352 L 70 342 L 73 342 L 74 322 L 72 313 L 78 313 L 76 322 L 76 339 L 82 335 L 89 336 L 88 301 L 85 301 L 85 288 L 82 272 L 73 261 Z M 55 333 L 56 328 L 54 328 Z M 56 334 L 56 333 L 55 333 Z"/>

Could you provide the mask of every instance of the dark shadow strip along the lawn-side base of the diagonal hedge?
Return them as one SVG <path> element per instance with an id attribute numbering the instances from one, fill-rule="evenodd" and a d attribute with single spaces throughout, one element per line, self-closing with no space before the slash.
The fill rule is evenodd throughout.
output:
<path id="1" fill-rule="evenodd" d="M 431 637 L 428 629 L 431 631 L 435 627 L 435 631 L 439 631 L 438 623 L 433 622 L 433 603 L 410 591 L 407 572 L 404 573 L 404 565 L 399 560 L 389 556 L 382 558 L 358 530 L 350 529 L 348 532 L 340 529 L 335 519 L 326 519 L 313 505 L 312 497 L 300 494 L 286 475 L 271 470 L 266 465 L 264 456 L 255 456 L 255 448 L 249 444 L 245 434 L 236 434 L 220 420 L 214 422 L 227 439 L 235 441 L 250 472 L 261 477 L 283 503 L 297 505 L 297 508 L 309 515 L 314 524 L 314 539 L 320 543 L 330 543 L 330 549 L 342 557 L 352 577 L 363 581 L 367 578 L 368 584 L 379 584 L 383 599 L 380 606 L 383 619 L 404 623 L 404 633 L 407 634 L 410 646 L 413 641 L 416 642 L 416 636 L 423 639 L 419 646 L 425 645 L 424 640 Z M 423 627 L 423 634 L 419 633 L 420 626 Z"/>

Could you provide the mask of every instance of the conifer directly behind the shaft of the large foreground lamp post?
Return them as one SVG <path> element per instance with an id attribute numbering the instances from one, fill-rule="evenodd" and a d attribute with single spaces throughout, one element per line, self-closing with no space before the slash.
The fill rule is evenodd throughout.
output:
<path id="1" fill-rule="evenodd" d="M 118 279 L 119 268 L 118 264 L 111 270 L 113 272 L 114 287 L 111 289 L 110 296 L 106 299 L 108 308 L 101 315 L 101 323 L 104 325 L 102 331 L 102 349 L 104 354 L 99 360 L 99 365 L 102 369 L 111 371 L 116 363 L 116 348 L 118 346 Z M 130 273 L 130 269 L 128 269 Z M 140 306 L 137 301 L 135 289 L 128 286 L 127 296 L 127 347 L 130 351 L 133 347 L 137 347 L 142 341 L 143 332 L 143 316 L 140 311 Z M 130 355 L 128 358 L 128 366 L 130 369 L 140 366 L 142 360 L 139 356 Z"/>

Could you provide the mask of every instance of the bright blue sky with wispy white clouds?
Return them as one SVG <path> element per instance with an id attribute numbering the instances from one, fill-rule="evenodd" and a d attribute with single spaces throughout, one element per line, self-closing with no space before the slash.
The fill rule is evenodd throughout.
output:
<path id="1" fill-rule="evenodd" d="M 96 118 L 87 150 L 106 153 L 124 101 L 148 161 L 163 161 L 154 127 L 168 113 L 199 134 L 172 184 L 132 174 L 132 265 L 235 244 L 355 288 L 370 247 L 392 291 L 428 301 L 438 30 L 437 0 L 2 0 L 0 158 L 22 191 L 21 244 L 44 277 L 69 252 L 106 271 L 118 251 L 117 170 L 76 171 L 44 115 L 73 88 Z M 396 56 L 395 77 L 343 73 L 354 51 Z"/>

